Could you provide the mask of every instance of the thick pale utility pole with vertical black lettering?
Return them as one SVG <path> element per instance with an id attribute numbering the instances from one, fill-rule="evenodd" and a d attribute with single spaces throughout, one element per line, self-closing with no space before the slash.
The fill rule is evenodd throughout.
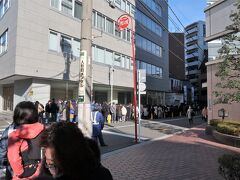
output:
<path id="1" fill-rule="evenodd" d="M 82 0 L 81 48 L 78 87 L 78 126 L 92 136 L 92 0 Z"/>

